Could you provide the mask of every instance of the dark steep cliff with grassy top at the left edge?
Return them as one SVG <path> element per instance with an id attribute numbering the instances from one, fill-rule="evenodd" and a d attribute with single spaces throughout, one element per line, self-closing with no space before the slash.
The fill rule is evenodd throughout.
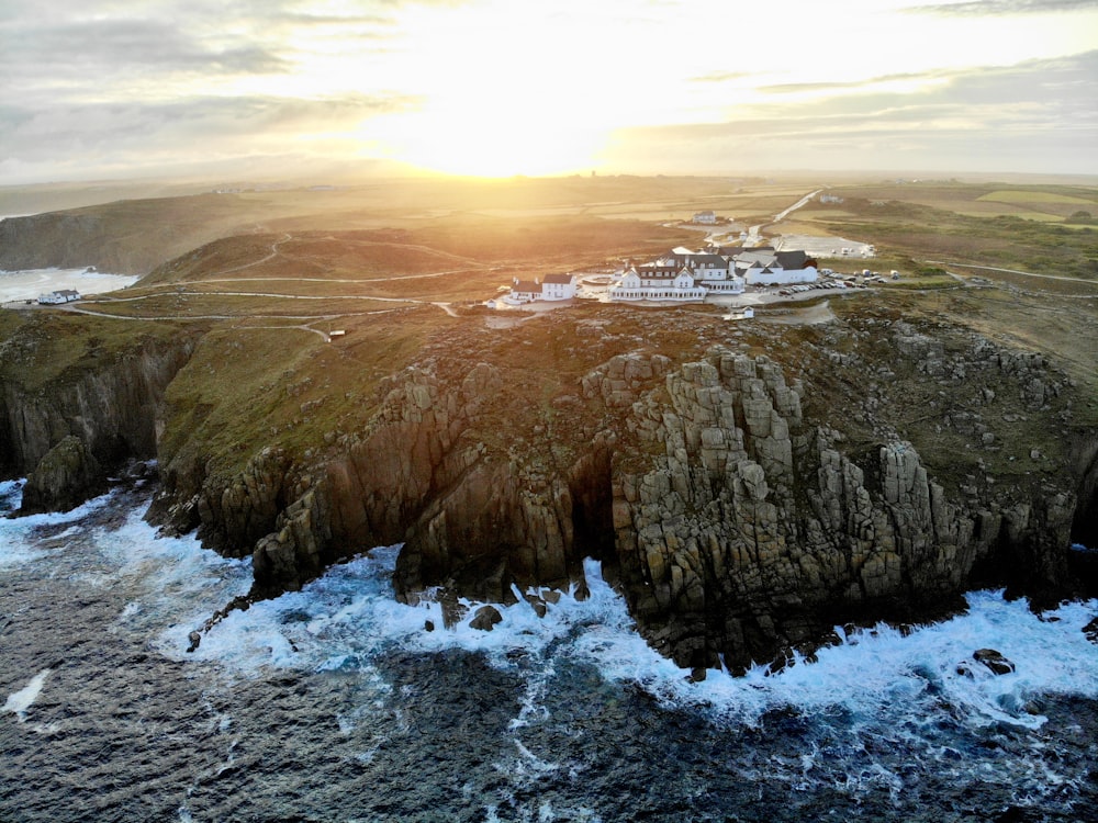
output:
<path id="1" fill-rule="evenodd" d="M 160 404 L 197 335 L 41 317 L 0 341 L 0 476 L 27 477 L 21 511 L 67 510 L 156 458 Z"/>

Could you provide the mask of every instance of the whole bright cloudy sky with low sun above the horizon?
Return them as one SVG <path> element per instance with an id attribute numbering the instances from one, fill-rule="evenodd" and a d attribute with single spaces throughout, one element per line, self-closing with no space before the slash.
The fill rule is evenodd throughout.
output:
<path id="1" fill-rule="evenodd" d="M 1095 174 L 1096 89 L 1098 0 L 0 0 L 0 185 Z"/>

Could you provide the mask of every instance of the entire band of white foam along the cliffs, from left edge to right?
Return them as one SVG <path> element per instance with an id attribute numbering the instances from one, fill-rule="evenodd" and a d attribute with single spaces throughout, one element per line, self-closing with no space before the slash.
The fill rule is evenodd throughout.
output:
<path id="1" fill-rule="evenodd" d="M 0 495 L 13 488 L 0 485 Z M 34 525 L 76 520 L 110 503 L 105 496 L 66 515 L 0 520 L 0 565 L 26 562 L 43 552 L 25 540 Z M 1098 655 L 1080 631 L 1098 611 L 1095 601 L 1067 604 L 1041 618 L 1022 600 L 973 593 L 967 615 L 918 628 L 908 636 L 878 625 L 820 650 L 813 664 L 798 659 L 776 675 L 758 666 L 738 678 L 710 670 L 705 681 L 694 684 L 637 633 L 624 599 L 593 561 L 584 564 L 587 599 L 565 593 L 539 618 L 519 598 L 512 606 L 497 606 L 502 621 L 483 632 L 469 625 L 479 604 L 464 601 L 466 618 L 446 628 L 439 604 L 410 606 L 395 599 L 391 577 L 399 546 L 376 549 L 329 568 L 301 591 L 229 613 L 188 653 L 190 632 L 248 590 L 250 561 L 221 557 L 192 537 L 155 539 L 136 511 L 96 542 L 107 561 L 99 572 L 104 580 L 130 587 L 120 627 L 152 632 L 168 656 L 213 662 L 245 676 L 259 676 L 270 667 L 356 672 L 383 691 L 388 687 L 374 663 L 386 652 L 480 652 L 500 667 L 522 665 L 526 686 L 512 721 L 515 733 L 547 719 L 545 696 L 562 659 L 590 663 L 606 679 L 638 684 L 668 704 L 694 706 L 748 724 L 783 707 L 844 712 L 858 722 L 888 714 L 896 706 L 910 706 L 912 718 L 930 718 L 931 707 L 948 706 L 952 717 L 974 726 L 1006 722 L 1035 728 L 1043 718 L 1031 713 L 1033 698 L 1098 698 Z M 428 621 L 434 631 L 425 629 Z M 973 662 L 973 652 L 983 647 L 1001 652 L 1016 670 L 995 676 Z M 919 706 L 925 710 L 918 711 Z M 350 729 L 358 720 L 347 714 L 340 723 Z"/>

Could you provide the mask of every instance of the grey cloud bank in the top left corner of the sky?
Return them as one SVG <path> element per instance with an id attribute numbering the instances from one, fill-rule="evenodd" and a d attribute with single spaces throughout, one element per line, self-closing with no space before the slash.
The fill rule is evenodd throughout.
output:
<path id="1" fill-rule="evenodd" d="M 114 83 L 127 87 L 128 95 L 136 81 L 291 74 L 302 49 L 330 48 L 334 42 L 377 48 L 391 40 L 399 3 L 365 5 L 365 11 L 335 15 L 256 0 L 227 7 L 202 0 L 27 4 L 0 16 L 0 76 L 23 91 L 102 97 Z M 15 93 L 8 88 L 7 94 Z"/>

